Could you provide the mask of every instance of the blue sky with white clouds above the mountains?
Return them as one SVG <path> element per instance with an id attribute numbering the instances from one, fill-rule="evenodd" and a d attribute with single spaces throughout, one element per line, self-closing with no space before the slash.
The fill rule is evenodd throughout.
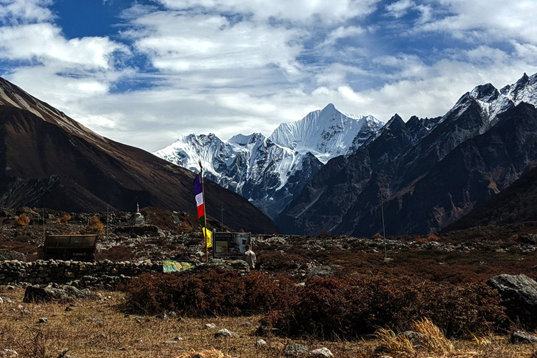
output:
<path id="1" fill-rule="evenodd" d="M 155 151 L 327 103 L 443 115 L 537 72 L 537 0 L 0 0 L 0 76 Z"/>

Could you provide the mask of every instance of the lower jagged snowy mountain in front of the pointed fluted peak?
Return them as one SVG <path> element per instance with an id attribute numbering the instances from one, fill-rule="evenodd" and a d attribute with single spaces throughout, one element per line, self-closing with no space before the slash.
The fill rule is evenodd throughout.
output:
<path id="1" fill-rule="evenodd" d="M 222 141 L 214 134 L 182 136 L 155 153 L 199 172 L 222 187 L 241 194 L 269 216 L 278 214 L 322 166 L 310 153 L 281 147 L 263 134 L 238 134 Z"/>

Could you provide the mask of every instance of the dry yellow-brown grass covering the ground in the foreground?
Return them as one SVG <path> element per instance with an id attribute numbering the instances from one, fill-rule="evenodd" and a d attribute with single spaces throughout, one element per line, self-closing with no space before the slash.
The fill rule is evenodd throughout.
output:
<path id="1" fill-rule="evenodd" d="M 0 304 L 0 350 L 12 349 L 19 357 L 155 357 L 155 358 L 274 358 L 283 357 L 287 343 L 299 343 L 308 349 L 327 347 L 336 358 L 373 358 L 378 345 L 394 340 L 393 332 L 377 334 L 373 340 L 317 341 L 290 340 L 276 336 L 256 336 L 259 316 L 193 319 L 185 317 L 159 319 L 145 317 L 141 323 L 134 315 L 124 315 L 118 306 L 124 300 L 120 292 L 100 292 L 101 299 L 62 303 L 22 303 L 23 289 L 7 291 L 0 287 L 0 296 L 11 303 Z M 5 300 L 6 301 L 6 300 Z M 66 307 L 71 311 L 66 311 Z M 27 310 L 27 313 L 23 313 Z M 40 317 L 48 323 L 39 324 Z M 251 326 L 245 324 L 250 322 Z M 205 329 L 206 323 L 216 329 Z M 529 358 L 531 345 L 510 345 L 504 336 L 475 338 L 473 341 L 447 341 L 431 322 L 416 322 L 415 329 L 427 335 L 427 347 L 410 349 L 410 342 L 394 343 L 390 357 L 441 358 L 490 357 Z M 216 339 L 217 329 L 227 328 L 239 337 Z M 383 338 L 384 337 L 384 338 Z M 182 338 L 182 339 L 179 339 Z M 268 344 L 256 346 L 259 338 Z M 445 340 L 445 341 L 444 341 Z M 166 343 L 166 341 L 169 341 Z M 174 343 L 171 343 L 171 342 Z"/>

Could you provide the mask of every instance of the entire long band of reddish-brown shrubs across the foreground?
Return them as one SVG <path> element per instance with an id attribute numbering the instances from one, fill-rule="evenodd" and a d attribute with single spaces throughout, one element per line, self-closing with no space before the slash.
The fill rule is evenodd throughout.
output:
<path id="1" fill-rule="evenodd" d="M 141 275 L 127 285 L 127 309 L 194 316 L 264 313 L 261 324 L 285 336 L 352 339 L 379 327 L 408 329 L 429 318 L 447 336 L 485 334 L 506 322 L 499 295 L 484 283 L 440 285 L 399 278 L 317 278 L 297 287 L 252 272 L 190 277 Z"/>

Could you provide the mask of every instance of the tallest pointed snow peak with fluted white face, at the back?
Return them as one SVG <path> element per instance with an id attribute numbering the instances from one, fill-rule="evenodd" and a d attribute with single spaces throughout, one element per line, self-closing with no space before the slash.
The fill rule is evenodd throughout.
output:
<path id="1" fill-rule="evenodd" d="M 359 148 L 383 124 L 371 115 L 343 114 L 329 103 L 301 120 L 280 124 L 268 138 L 297 152 L 310 152 L 326 164 Z"/>

